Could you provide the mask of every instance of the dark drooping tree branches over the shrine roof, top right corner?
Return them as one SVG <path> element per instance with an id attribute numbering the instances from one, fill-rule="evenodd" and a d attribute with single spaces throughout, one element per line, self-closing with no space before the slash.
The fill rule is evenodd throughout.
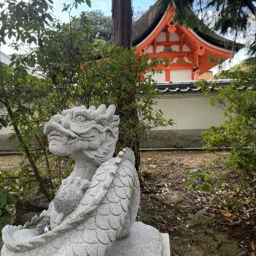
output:
<path id="1" fill-rule="evenodd" d="M 238 34 L 244 35 L 250 53 L 256 53 L 254 0 L 162 0 L 162 4 L 163 8 L 174 4 L 177 10 L 176 21 L 188 27 L 197 26 L 200 30 L 208 30 L 207 27 L 210 27 L 221 34 L 233 34 L 234 39 Z"/>

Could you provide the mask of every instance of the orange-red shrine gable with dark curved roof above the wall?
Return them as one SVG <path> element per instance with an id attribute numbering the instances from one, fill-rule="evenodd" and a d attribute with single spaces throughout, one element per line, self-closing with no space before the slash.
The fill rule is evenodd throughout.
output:
<path id="1" fill-rule="evenodd" d="M 168 58 L 168 67 L 156 80 L 197 80 L 199 76 L 222 61 L 230 59 L 244 47 L 219 36 L 197 19 L 193 29 L 173 23 L 176 10 L 164 10 L 162 1 L 150 7 L 133 23 L 132 44 L 138 54 L 148 53 L 150 58 Z"/>

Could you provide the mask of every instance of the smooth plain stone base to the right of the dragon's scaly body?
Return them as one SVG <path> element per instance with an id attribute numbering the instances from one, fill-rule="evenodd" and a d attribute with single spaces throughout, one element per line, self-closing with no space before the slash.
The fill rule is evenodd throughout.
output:
<path id="1" fill-rule="evenodd" d="M 135 222 L 129 236 L 116 241 L 105 256 L 170 256 L 169 235 Z"/>

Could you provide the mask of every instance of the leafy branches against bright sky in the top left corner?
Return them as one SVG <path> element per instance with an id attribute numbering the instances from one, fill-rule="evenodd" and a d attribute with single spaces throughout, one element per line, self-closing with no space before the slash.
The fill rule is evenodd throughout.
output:
<path id="1" fill-rule="evenodd" d="M 79 4 L 86 3 L 91 6 L 91 0 L 73 0 L 72 5 L 78 8 Z M 50 10 L 53 9 L 52 0 L 0 1 L 0 42 L 5 42 L 6 37 L 14 37 L 16 42 L 37 44 L 37 40 L 53 21 Z M 18 50 L 18 45 L 15 46 Z"/>

